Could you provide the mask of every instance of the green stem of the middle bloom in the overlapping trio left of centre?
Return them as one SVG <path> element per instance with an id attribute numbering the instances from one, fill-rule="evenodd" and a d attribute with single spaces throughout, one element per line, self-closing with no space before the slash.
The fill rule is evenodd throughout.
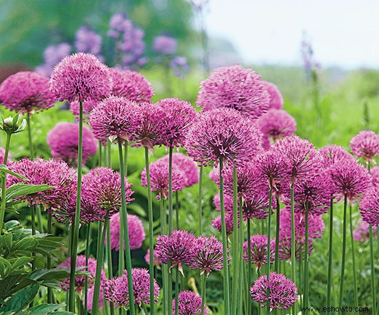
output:
<path id="1" fill-rule="evenodd" d="M 147 180 L 147 211 L 149 215 L 149 272 L 150 272 L 150 314 L 154 312 L 154 230 L 153 230 L 153 204 L 152 204 L 152 186 L 150 183 L 150 170 L 149 170 L 149 149 L 145 148 L 145 166 L 146 166 L 146 180 Z M 162 232 L 162 231 L 161 231 Z M 162 232 L 163 233 L 163 232 Z"/>

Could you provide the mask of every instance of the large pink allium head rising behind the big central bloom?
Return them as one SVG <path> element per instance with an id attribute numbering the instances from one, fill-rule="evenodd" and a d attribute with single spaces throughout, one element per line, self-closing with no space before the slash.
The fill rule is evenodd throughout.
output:
<path id="1" fill-rule="evenodd" d="M 269 92 L 260 76 L 241 65 L 219 67 L 201 83 L 196 105 L 205 110 L 232 107 L 252 120 L 269 108 Z"/>

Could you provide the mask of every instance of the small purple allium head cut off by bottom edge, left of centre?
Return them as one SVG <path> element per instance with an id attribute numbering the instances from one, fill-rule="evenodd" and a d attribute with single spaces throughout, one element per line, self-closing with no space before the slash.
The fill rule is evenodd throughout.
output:
<path id="1" fill-rule="evenodd" d="M 175 314 L 175 298 L 172 300 L 172 314 Z M 203 300 L 195 292 L 185 290 L 178 294 L 178 315 L 201 315 Z M 207 305 L 204 305 L 204 315 L 209 314 Z"/>

